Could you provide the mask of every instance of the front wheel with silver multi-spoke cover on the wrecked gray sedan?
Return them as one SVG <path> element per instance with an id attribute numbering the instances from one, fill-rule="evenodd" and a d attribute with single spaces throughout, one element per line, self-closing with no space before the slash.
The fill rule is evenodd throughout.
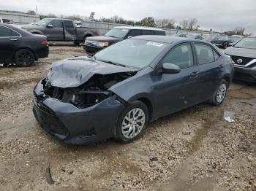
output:
<path id="1" fill-rule="evenodd" d="M 134 120 L 133 115 L 135 115 L 135 118 L 138 117 L 137 121 Z M 129 143 L 138 139 L 145 131 L 147 123 L 147 106 L 141 101 L 132 102 L 132 104 L 129 104 L 118 117 L 116 139 L 123 143 Z"/>

